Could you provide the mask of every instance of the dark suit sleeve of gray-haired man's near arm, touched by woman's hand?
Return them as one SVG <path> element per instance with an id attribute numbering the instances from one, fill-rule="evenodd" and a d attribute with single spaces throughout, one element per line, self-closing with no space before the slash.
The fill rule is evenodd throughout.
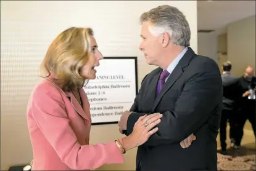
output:
<path id="1" fill-rule="evenodd" d="M 180 143 L 209 119 L 221 100 L 222 82 L 219 68 L 212 60 L 206 60 L 184 85 L 183 92 L 175 103 L 175 109 L 163 113 L 161 122 L 157 125 L 159 131 L 152 135 L 145 145 Z M 127 121 L 128 134 L 132 132 L 134 122 L 141 115 L 130 114 Z M 214 118 L 214 122 L 219 122 L 218 116 Z"/>

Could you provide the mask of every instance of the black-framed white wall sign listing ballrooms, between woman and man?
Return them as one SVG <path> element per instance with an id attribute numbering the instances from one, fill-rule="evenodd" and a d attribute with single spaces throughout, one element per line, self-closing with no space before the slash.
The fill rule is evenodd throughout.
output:
<path id="1" fill-rule="evenodd" d="M 84 90 L 91 105 L 92 124 L 115 124 L 133 105 L 138 92 L 137 57 L 104 57 L 96 79 Z"/>

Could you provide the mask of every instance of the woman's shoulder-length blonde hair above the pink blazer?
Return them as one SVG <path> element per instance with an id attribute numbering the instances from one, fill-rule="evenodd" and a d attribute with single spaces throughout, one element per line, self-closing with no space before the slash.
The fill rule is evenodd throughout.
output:
<path id="1" fill-rule="evenodd" d="M 89 36 L 93 36 L 91 28 L 72 27 L 60 33 L 41 63 L 41 77 L 47 78 L 54 73 L 54 82 L 64 91 L 83 87 L 85 78 L 81 76 L 81 67 L 91 53 Z"/>

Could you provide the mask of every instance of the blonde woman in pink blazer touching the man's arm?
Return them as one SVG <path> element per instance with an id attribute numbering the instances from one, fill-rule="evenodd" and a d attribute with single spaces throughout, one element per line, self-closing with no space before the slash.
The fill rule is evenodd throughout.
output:
<path id="1" fill-rule="evenodd" d="M 101 59 L 90 28 L 65 30 L 47 50 L 41 63 L 44 79 L 31 93 L 27 107 L 32 170 L 86 170 L 123 163 L 126 151 L 157 132 L 152 128 L 159 124 L 162 114 L 145 115 L 130 136 L 89 145 L 91 114 L 82 87 L 86 80 L 96 78 L 94 67 Z"/>

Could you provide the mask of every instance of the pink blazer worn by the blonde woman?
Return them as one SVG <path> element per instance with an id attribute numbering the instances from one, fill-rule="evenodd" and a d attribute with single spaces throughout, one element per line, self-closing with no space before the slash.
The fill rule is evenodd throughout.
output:
<path id="1" fill-rule="evenodd" d="M 27 122 L 33 147 L 32 170 L 90 170 L 123 163 L 114 141 L 89 144 L 89 102 L 80 90 L 83 108 L 73 93 L 63 92 L 44 79 L 31 93 Z"/>

